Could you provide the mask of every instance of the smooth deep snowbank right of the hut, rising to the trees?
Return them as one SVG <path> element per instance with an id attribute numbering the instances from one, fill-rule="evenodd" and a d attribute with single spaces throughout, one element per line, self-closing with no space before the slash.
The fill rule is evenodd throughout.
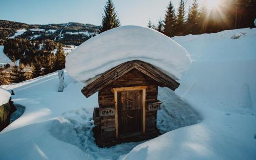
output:
<path id="1" fill-rule="evenodd" d="M 176 94 L 203 121 L 138 145 L 123 159 L 255 159 L 256 29 L 174 40 L 193 61 Z"/>

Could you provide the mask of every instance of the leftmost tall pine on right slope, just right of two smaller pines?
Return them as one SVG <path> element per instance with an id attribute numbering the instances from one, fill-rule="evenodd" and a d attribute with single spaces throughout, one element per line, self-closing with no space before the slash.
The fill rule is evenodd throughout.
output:
<path id="1" fill-rule="evenodd" d="M 163 26 L 164 27 L 163 33 L 166 36 L 173 37 L 175 35 L 176 21 L 177 21 L 177 17 L 176 17 L 175 9 L 172 2 L 170 2 L 167 7 L 167 11 L 164 18 L 164 26 Z"/>

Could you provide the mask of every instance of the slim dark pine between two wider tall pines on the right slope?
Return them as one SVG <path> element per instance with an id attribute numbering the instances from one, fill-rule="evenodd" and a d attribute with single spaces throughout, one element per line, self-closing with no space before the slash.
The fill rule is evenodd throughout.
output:
<path id="1" fill-rule="evenodd" d="M 185 26 L 184 1 L 181 0 L 180 6 L 178 9 L 178 15 L 177 15 L 177 31 L 179 36 L 184 34 L 184 26 Z"/>

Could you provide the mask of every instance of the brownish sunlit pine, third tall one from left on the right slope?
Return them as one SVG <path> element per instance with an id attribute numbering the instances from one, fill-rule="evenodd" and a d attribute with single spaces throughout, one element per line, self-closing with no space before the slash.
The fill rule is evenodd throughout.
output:
<path id="1" fill-rule="evenodd" d="M 192 7 L 189 8 L 186 25 L 187 25 L 187 33 L 188 34 L 198 34 L 198 33 L 200 33 L 199 12 L 198 12 L 198 2 L 197 2 L 197 0 L 194 0 L 193 4 L 192 4 Z"/>

